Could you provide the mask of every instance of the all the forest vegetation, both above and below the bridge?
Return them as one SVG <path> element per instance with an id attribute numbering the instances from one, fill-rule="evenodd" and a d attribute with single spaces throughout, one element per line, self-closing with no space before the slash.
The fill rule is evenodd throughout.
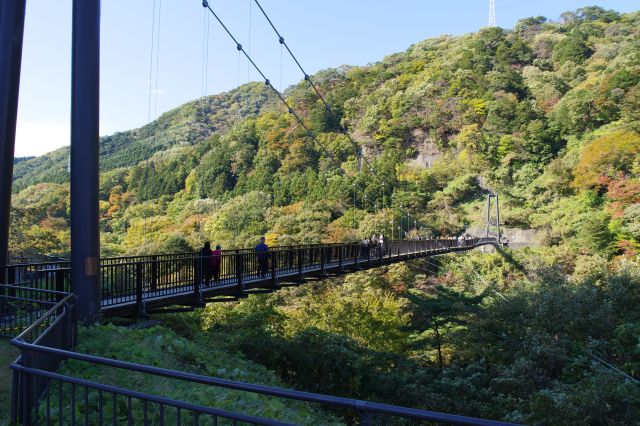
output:
<path id="1" fill-rule="evenodd" d="M 640 375 L 640 13 L 527 18 L 314 79 L 333 114 L 304 82 L 286 97 L 331 158 L 258 83 L 105 137 L 103 254 L 397 235 L 400 205 L 405 231 L 456 234 L 482 223 L 488 190 L 504 224 L 543 247 L 394 266 L 167 325 L 301 389 L 532 424 L 637 422 L 638 385 L 595 357 Z M 65 149 L 16 162 L 14 254 L 67 254 L 66 167 Z"/>

